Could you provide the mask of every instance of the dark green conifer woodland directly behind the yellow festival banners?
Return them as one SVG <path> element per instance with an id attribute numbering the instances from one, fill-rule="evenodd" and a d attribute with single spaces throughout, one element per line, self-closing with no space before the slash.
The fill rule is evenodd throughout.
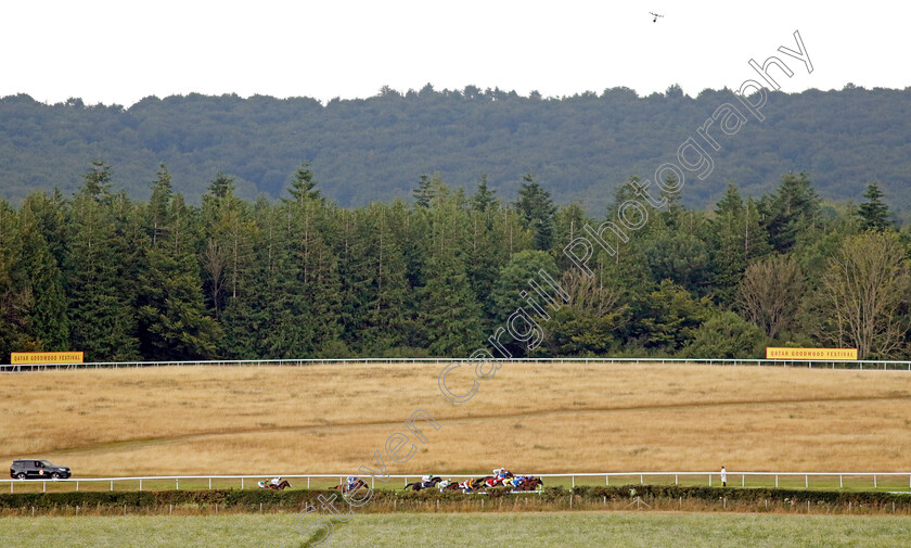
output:
<path id="1" fill-rule="evenodd" d="M 761 357 L 766 345 L 908 357 L 909 238 L 882 190 L 833 204 L 806 173 L 758 199 L 729 184 L 704 211 L 667 194 L 592 277 L 564 253 L 589 216 L 533 175 L 504 195 L 438 176 L 406 200 L 342 207 L 305 162 L 280 199 L 213 173 L 200 205 L 164 165 L 131 199 L 94 162 L 79 188 L 0 201 L 0 357 L 88 361 L 465 356 L 544 270 L 570 297 L 514 355 Z M 628 178 L 607 212 L 631 195 Z M 549 309 L 550 310 L 550 309 Z"/>

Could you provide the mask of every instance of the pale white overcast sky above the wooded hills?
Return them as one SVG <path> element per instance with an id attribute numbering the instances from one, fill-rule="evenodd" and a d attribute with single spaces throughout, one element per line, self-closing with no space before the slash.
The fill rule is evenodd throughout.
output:
<path id="1" fill-rule="evenodd" d="M 695 95 L 755 77 L 799 30 L 784 91 L 911 86 L 907 2 L 10 2 L 0 95 L 130 105 L 146 95 L 356 98 L 500 87 L 564 95 L 671 84 Z M 664 18 L 652 22 L 650 11 Z M 780 55 L 780 54 L 779 54 Z M 791 58 L 786 58 L 791 59 Z"/>

